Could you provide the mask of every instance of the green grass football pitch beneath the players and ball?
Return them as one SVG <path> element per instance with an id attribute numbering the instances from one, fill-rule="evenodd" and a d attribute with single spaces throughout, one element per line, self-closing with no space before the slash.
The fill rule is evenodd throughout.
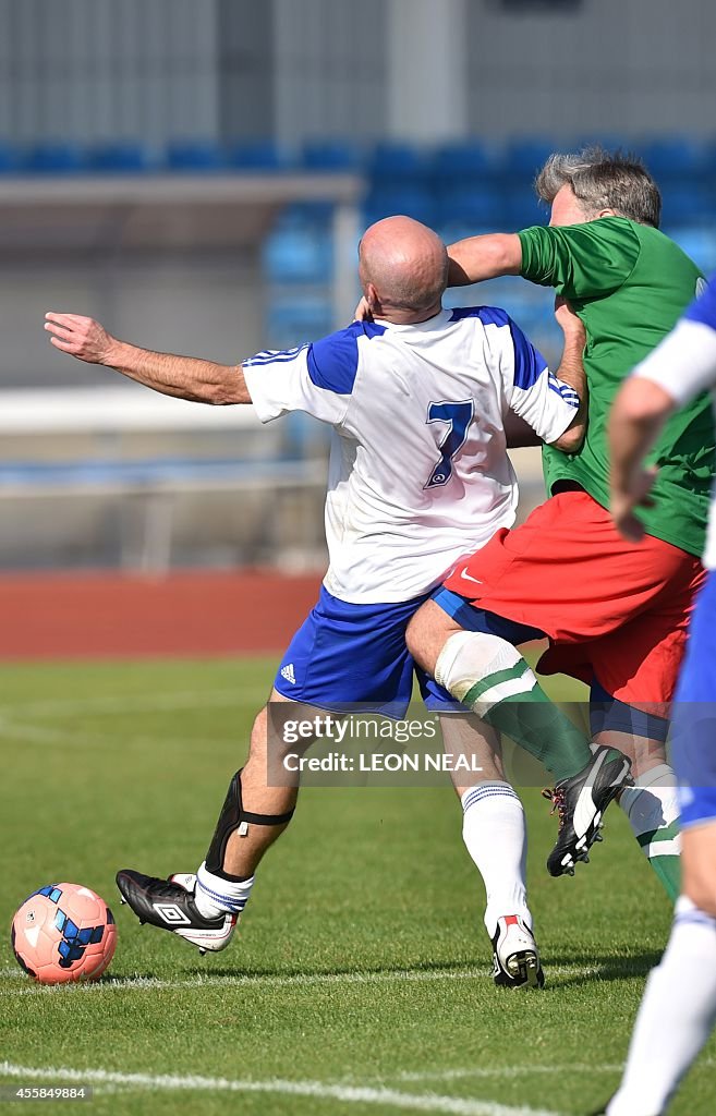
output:
<path id="1" fill-rule="evenodd" d="M 553 881 L 554 819 L 524 792 L 542 993 L 493 987 L 482 885 L 447 786 L 304 791 L 216 956 L 119 907 L 117 868 L 201 859 L 274 666 L 3 670 L 2 924 L 36 887 L 69 878 L 110 903 L 119 936 L 103 982 L 42 989 L 3 935 L 0 1085 L 68 1084 L 77 1070 L 94 1080 L 96 1116 L 572 1116 L 603 1101 L 670 923 L 617 809 L 592 864 Z M 675 1116 L 713 1113 L 713 1056 L 709 1045 Z M 48 1067 L 67 1072 L 28 1076 Z M 36 1109 L 47 1104 L 23 1108 Z"/>

